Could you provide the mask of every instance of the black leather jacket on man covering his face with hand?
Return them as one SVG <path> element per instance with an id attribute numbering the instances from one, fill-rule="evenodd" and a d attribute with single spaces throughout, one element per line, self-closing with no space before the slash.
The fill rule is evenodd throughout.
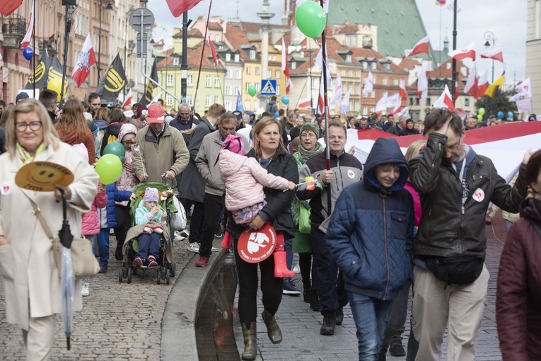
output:
<path id="1" fill-rule="evenodd" d="M 409 161 L 409 178 L 419 192 L 423 211 L 413 254 L 484 258 L 484 218 L 489 202 L 507 212 L 518 212 L 527 193 L 525 168 L 520 166 L 511 188 L 489 158 L 475 155 L 466 171 L 469 194 L 462 210 L 459 176 L 453 165 L 441 157 L 446 142 L 445 135 L 431 133 L 422 154 Z"/>

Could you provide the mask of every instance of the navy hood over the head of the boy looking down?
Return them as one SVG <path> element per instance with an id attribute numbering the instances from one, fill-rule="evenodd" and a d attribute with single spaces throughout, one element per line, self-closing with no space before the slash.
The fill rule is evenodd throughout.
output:
<path id="1" fill-rule="evenodd" d="M 374 169 L 376 166 L 381 164 L 397 164 L 400 166 L 400 177 L 398 180 L 386 190 L 387 192 L 392 192 L 393 190 L 400 190 L 406 185 L 407 178 L 409 177 L 409 170 L 407 168 L 406 159 L 404 154 L 400 150 L 397 141 L 394 138 L 378 138 L 368 158 L 364 164 L 363 178 L 366 180 L 366 183 L 372 187 L 377 188 L 378 190 L 383 190 L 379 183 L 376 181 L 376 174 L 374 174 Z"/>

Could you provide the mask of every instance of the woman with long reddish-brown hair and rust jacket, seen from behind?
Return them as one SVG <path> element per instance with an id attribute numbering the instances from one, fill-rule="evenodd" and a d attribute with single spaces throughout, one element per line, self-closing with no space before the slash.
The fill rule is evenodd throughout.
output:
<path id="1" fill-rule="evenodd" d="M 84 144 L 88 151 L 88 161 L 90 164 L 94 164 L 94 137 L 86 124 L 83 111 L 84 108 L 81 101 L 77 99 L 66 101 L 60 119 L 54 124 L 54 129 L 57 130 L 62 142 L 66 142 L 69 145 Z"/>

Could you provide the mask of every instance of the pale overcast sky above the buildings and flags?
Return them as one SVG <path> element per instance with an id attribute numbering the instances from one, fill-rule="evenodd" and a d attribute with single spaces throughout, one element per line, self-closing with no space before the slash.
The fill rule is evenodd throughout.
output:
<path id="1" fill-rule="evenodd" d="M 333 1 L 333 0 L 330 0 Z M 401 0 L 397 0 L 401 1 Z M 426 32 L 429 34 L 433 49 L 443 47 L 441 42 L 447 35 L 450 41 L 449 47 L 453 47 L 453 13 L 448 11 L 446 6 L 437 6 L 432 0 L 416 0 L 421 18 L 424 21 Z M 447 0 L 452 1 L 452 0 Z M 496 45 L 501 45 L 504 50 L 504 61 L 506 62 L 506 84 L 513 83 L 513 76 L 516 81 L 522 81 L 525 74 L 525 52 L 526 52 L 526 0 L 477 0 L 458 1 L 463 10 L 457 17 L 457 48 L 466 47 L 475 42 L 477 52 L 484 50 L 484 33 L 491 31 L 496 38 Z M 259 21 L 256 13 L 262 11 L 262 0 L 238 0 L 238 15 L 243 21 Z M 275 13 L 272 23 L 279 23 L 283 13 L 284 1 L 271 0 L 270 11 Z M 171 44 L 170 36 L 173 35 L 173 27 L 182 28 L 182 16 L 174 18 L 171 15 L 167 4 L 163 0 L 153 0 L 148 3 L 149 9 L 154 13 L 156 23 L 160 27 L 154 31 L 156 40 L 163 38 L 166 44 Z M 206 16 L 209 8 L 209 0 L 203 0 L 192 11 L 190 18 Z M 237 13 L 237 1 L 217 1 L 212 3 L 211 16 L 222 18 L 235 17 Z M 441 14 L 441 22 L 440 22 Z M 407 24 L 405 24 L 407 28 Z M 419 39 L 420 40 L 420 39 Z M 404 48 L 409 49 L 414 44 Z M 467 67 L 472 67 L 473 62 L 466 60 Z M 477 61 L 477 72 L 489 71 L 491 81 L 492 61 L 490 59 L 479 59 Z M 497 79 L 504 70 L 504 65 L 494 62 L 494 77 Z"/>

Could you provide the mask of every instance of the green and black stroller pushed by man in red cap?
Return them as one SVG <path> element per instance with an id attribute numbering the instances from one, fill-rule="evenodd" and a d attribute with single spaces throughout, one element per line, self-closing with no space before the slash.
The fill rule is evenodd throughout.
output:
<path id="1" fill-rule="evenodd" d="M 158 197 L 160 201 L 158 205 L 163 210 L 166 210 L 168 213 L 167 224 L 169 225 L 170 214 L 178 212 L 173 205 L 173 190 L 171 190 L 168 185 L 163 183 L 140 183 L 135 186 L 133 193 L 136 195 L 136 199 L 132 200 L 129 204 L 129 212 L 132 215 L 132 228 L 128 231 L 128 236 L 126 241 L 124 241 L 123 253 L 124 260 L 122 262 L 122 267 L 118 270 L 118 282 L 122 282 L 124 278 L 127 278 L 128 283 L 132 283 L 132 275 L 136 275 L 138 271 L 148 272 L 149 270 L 158 270 L 158 275 L 156 276 L 156 281 L 158 285 L 161 284 L 163 280 L 169 285 L 170 277 L 175 277 L 176 265 L 173 262 L 173 239 L 170 239 L 170 229 L 165 227 L 163 234 L 160 236 L 159 244 L 159 256 L 156 258 L 157 266 L 149 267 L 143 266 L 141 269 L 138 269 L 134 265 L 134 258 L 139 249 L 139 242 L 136 234 L 135 228 L 135 211 L 139 202 L 143 200 L 144 193 L 146 188 L 156 188 L 158 190 Z M 131 235 L 131 236 L 130 236 Z"/>

